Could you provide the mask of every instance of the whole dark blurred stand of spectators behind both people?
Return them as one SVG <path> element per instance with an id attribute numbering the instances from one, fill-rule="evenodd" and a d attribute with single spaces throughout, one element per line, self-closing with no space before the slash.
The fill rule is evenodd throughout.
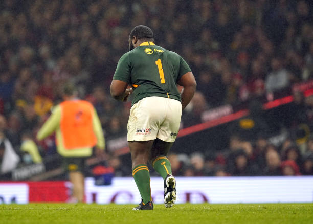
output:
<path id="1" fill-rule="evenodd" d="M 14 161 L 0 180 L 65 178 L 54 137 L 34 137 L 67 81 L 105 131 L 106 153 L 90 170 L 131 176 L 130 102 L 115 102 L 109 84 L 141 24 L 198 83 L 182 117 L 188 135 L 169 155 L 173 175 L 313 175 L 312 10 L 303 0 L 0 1 L 0 162 L 11 163 L 6 150 Z"/>

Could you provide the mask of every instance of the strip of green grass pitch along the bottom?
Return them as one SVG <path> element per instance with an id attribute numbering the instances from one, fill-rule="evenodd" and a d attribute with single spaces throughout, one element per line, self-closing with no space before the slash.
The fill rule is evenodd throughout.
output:
<path id="1" fill-rule="evenodd" d="M 134 205 L 0 205 L 0 223 L 313 223 L 313 204 L 177 204 L 132 211 Z"/>

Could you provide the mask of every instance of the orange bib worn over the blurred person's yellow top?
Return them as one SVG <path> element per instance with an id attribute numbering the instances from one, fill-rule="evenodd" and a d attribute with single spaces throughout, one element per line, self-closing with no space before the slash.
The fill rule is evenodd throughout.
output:
<path id="1" fill-rule="evenodd" d="M 60 129 L 64 147 L 68 150 L 94 147 L 97 138 L 93 130 L 92 104 L 84 100 L 73 100 L 64 101 L 60 105 Z"/>

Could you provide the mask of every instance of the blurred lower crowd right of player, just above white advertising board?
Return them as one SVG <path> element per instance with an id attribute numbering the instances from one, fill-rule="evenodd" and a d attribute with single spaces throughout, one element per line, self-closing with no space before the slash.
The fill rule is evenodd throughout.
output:
<path id="1" fill-rule="evenodd" d="M 264 136 L 251 142 L 234 135 L 222 152 L 171 154 L 169 160 L 176 176 L 313 175 L 313 138 L 301 151 L 289 138 L 277 147 Z"/>

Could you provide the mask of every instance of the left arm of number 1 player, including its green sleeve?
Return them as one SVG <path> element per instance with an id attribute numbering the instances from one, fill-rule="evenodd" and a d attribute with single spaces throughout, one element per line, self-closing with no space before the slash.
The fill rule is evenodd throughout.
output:
<path id="1" fill-rule="evenodd" d="M 132 93 L 132 89 L 127 89 L 130 80 L 130 65 L 128 53 L 124 54 L 117 65 L 113 80 L 110 86 L 111 96 L 119 101 L 126 101 Z"/>

